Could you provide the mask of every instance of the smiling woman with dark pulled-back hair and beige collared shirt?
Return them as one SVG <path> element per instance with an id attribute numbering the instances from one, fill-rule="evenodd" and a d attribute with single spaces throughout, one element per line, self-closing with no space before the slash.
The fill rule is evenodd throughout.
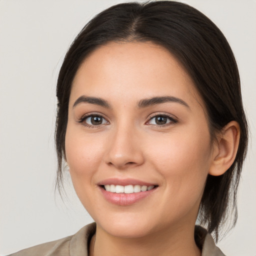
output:
<path id="1" fill-rule="evenodd" d="M 106 9 L 69 48 L 57 98 L 57 186 L 66 161 L 95 223 L 13 255 L 224 255 L 210 233 L 235 205 L 247 123 L 207 17 L 172 1 Z"/>

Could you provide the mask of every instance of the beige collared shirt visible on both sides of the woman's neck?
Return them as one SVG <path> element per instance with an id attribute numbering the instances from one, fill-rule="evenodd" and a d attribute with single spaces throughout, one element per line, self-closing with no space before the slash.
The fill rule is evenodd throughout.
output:
<path id="1" fill-rule="evenodd" d="M 9 256 L 88 256 L 88 245 L 95 230 L 96 224 L 91 223 L 74 235 L 35 245 Z M 200 226 L 195 226 L 195 241 L 202 248 L 201 256 L 225 256 L 215 245 L 211 235 Z"/>

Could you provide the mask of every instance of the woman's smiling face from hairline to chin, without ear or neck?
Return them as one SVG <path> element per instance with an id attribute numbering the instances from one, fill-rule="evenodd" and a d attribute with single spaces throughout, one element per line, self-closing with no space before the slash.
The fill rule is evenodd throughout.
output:
<path id="1" fill-rule="evenodd" d="M 166 49 L 110 42 L 93 51 L 73 81 L 65 150 L 97 228 L 139 237 L 194 225 L 210 134 L 193 81 Z"/>

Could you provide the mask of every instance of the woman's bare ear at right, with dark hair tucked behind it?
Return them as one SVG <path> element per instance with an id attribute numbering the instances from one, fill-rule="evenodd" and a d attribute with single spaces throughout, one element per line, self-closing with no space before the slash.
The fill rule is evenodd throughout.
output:
<path id="1" fill-rule="evenodd" d="M 213 160 L 209 174 L 219 176 L 233 163 L 239 145 L 240 127 L 236 121 L 227 123 L 217 134 L 217 142 L 213 147 Z"/>

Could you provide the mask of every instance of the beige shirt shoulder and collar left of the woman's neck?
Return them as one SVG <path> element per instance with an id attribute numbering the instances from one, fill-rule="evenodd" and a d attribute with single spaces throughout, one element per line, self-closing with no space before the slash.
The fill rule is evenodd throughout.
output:
<path id="1" fill-rule="evenodd" d="M 95 223 L 91 223 L 73 235 L 38 244 L 8 256 L 87 256 L 87 244 L 95 228 Z"/>

